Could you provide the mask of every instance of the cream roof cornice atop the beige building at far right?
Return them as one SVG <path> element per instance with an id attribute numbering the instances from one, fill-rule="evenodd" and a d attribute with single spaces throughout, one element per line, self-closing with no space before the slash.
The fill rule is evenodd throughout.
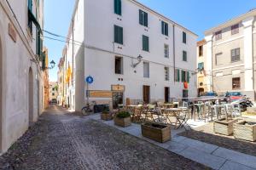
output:
<path id="1" fill-rule="evenodd" d="M 236 18 L 228 20 L 228 21 L 224 22 L 223 24 L 220 24 L 216 27 L 213 27 L 213 28 L 205 31 L 205 35 L 212 34 L 212 32 L 216 32 L 216 31 L 219 31 L 219 30 L 223 30 L 224 28 L 226 28 L 228 26 L 235 25 L 235 24 L 241 22 L 242 20 L 245 20 L 248 17 L 252 17 L 252 16 L 255 16 L 255 15 L 256 15 L 256 9 L 250 10 L 246 14 L 241 14 L 241 15 L 237 16 Z"/>

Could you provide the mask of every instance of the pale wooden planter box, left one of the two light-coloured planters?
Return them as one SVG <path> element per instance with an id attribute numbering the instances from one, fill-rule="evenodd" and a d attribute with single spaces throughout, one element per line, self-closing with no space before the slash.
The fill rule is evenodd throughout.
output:
<path id="1" fill-rule="evenodd" d="M 219 119 L 213 123 L 213 131 L 214 133 L 230 135 L 233 133 L 233 125 L 238 122 L 237 119 L 233 119 L 230 121 L 226 121 L 225 118 Z"/>

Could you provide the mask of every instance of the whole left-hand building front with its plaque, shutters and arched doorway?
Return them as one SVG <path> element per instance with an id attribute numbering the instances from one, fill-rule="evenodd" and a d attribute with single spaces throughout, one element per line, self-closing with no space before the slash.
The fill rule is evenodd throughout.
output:
<path id="1" fill-rule="evenodd" d="M 44 108 L 44 0 L 0 1 L 0 152 L 36 122 Z"/>

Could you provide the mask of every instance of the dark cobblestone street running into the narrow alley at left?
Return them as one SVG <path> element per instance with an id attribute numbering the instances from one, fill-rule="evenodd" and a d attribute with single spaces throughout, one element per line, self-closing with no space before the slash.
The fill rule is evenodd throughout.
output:
<path id="1" fill-rule="evenodd" d="M 55 106 L 0 157 L 0 169 L 209 168 Z"/>

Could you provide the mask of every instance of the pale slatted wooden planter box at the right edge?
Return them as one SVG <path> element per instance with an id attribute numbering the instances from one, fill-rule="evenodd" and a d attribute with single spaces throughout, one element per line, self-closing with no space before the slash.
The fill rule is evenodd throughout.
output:
<path id="1" fill-rule="evenodd" d="M 256 141 L 256 122 L 241 121 L 234 124 L 234 137 L 251 142 Z"/>

